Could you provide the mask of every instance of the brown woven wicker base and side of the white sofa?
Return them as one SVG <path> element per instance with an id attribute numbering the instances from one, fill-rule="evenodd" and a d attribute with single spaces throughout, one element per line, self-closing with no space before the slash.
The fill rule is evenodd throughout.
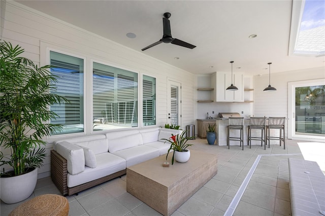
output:
<path id="1" fill-rule="evenodd" d="M 60 190 L 63 196 L 73 195 L 80 191 L 94 187 L 96 185 L 107 182 L 113 178 L 126 174 L 126 169 L 107 175 L 105 177 L 96 179 L 94 181 L 78 185 L 73 188 L 68 188 L 68 168 L 67 160 L 59 155 L 56 151 L 51 150 L 51 178 L 56 187 Z"/>

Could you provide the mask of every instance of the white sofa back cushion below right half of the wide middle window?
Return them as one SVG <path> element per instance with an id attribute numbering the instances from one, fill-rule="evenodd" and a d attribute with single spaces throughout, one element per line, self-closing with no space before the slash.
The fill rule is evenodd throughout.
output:
<path id="1" fill-rule="evenodd" d="M 142 136 L 140 133 L 125 135 L 123 137 L 109 139 L 108 150 L 110 153 L 142 145 Z"/>

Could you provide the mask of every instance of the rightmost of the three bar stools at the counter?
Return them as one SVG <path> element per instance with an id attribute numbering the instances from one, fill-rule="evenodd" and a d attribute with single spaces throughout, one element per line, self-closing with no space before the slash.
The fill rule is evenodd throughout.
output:
<path id="1" fill-rule="evenodd" d="M 267 125 L 267 141 L 269 140 L 269 148 L 270 148 L 270 141 L 271 139 L 279 140 L 280 146 L 281 141 L 283 141 L 283 149 L 285 149 L 285 117 L 269 117 L 269 124 Z M 279 136 L 271 136 L 270 130 L 271 129 L 278 129 L 280 130 Z M 283 137 L 282 137 L 282 130 L 283 130 Z"/>

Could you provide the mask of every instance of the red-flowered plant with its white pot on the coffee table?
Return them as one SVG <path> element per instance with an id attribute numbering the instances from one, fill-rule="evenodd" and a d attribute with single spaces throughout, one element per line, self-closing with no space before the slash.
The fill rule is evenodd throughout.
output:
<path id="1" fill-rule="evenodd" d="M 184 130 L 181 134 L 176 134 L 173 135 L 169 139 L 165 139 L 166 141 L 171 143 L 171 147 L 169 148 L 167 155 L 166 155 L 166 160 L 168 158 L 168 154 L 170 151 L 173 152 L 173 157 L 172 157 L 172 165 L 174 164 L 174 157 L 177 162 L 184 163 L 188 161 L 190 157 L 190 152 L 187 149 L 189 146 L 193 146 L 193 144 L 186 144 L 188 139 L 192 139 L 193 137 L 184 137 L 184 134 L 186 133 L 186 130 Z M 165 142 L 166 142 L 165 141 Z"/>

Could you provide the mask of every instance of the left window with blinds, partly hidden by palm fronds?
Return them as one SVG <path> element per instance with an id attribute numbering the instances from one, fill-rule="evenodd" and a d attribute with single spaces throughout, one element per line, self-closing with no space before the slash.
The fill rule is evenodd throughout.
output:
<path id="1" fill-rule="evenodd" d="M 64 96 L 70 101 L 70 103 L 53 104 L 50 107 L 51 111 L 58 115 L 51 123 L 63 125 L 63 130 L 55 134 L 83 132 L 84 60 L 50 51 L 50 64 L 51 73 L 57 76 L 56 91 L 53 93 Z"/>

